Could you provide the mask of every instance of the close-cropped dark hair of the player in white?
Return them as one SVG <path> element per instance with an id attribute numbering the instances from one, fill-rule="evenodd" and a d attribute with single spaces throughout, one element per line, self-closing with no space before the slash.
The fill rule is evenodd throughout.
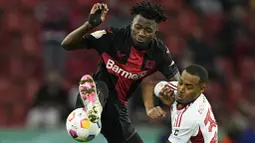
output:
<path id="1" fill-rule="evenodd" d="M 184 70 L 189 74 L 198 76 L 200 78 L 199 83 L 205 83 L 209 80 L 207 70 L 200 65 L 192 64 Z"/>

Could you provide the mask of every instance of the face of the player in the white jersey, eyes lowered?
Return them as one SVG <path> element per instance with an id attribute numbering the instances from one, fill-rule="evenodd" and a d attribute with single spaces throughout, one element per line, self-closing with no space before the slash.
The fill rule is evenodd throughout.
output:
<path id="1" fill-rule="evenodd" d="M 196 99 L 205 87 L 204 84 L 199 83 L 199 80 L 198 76 L 189 74 L 184 70 L 177 85 L 175 100 L 181 104 L 188 104 Z"/>

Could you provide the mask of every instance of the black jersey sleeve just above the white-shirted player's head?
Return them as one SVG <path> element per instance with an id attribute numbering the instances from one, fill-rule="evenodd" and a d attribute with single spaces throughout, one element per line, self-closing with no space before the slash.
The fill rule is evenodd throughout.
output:
<path id="1" fill-rule="evenodd" d="M 158 63 L 158 70 L 167 78 L 172 78 L 179 70 L 172 59 L 168 48 L 162 43 L 160 46 L 161 55 Z"/>

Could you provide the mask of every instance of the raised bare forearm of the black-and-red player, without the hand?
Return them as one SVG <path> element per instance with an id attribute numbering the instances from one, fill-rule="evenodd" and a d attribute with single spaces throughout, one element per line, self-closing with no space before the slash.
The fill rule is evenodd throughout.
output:
<path id="1" fill-rule="evenodd" d="M 61 46 L 65 50 L 74 50 L 78 48 L 85 48 L 82 46 L 86 46 L 86 43 L 82 43 L 82 37 L 86 35 L 90 30 L 94 27 L 91 26 L 88 22 L 84 23 L 79 28 L 72 31 L 68 34 L 65 39 L 62 41 Z"/>

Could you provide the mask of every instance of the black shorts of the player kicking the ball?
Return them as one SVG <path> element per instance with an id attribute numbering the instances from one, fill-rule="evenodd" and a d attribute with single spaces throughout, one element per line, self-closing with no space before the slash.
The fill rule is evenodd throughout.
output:
<path id="1" fill-rule="evenodd" d="M 116 99 L 107 98 L 105 100 L 105 93 L 108 92 L 108 88 L 105 89 L 105 85 L 98 84 L 97 88 L 100 90 L 100 102 L 104 106 L 101 121 L 102 130 L 108 143 L 126 143 L 133 135 L 137 134 L 136 130 L 128 117 L 127 107 Z M 102 100 L 102 98 L 104 98 Z M 77 97 L 76 107 L 83 107 L 80 95 Z M 133 140 L 133 139 L 132 139 Z M 140 143 L 140 137 L 133 143 Z"/>

